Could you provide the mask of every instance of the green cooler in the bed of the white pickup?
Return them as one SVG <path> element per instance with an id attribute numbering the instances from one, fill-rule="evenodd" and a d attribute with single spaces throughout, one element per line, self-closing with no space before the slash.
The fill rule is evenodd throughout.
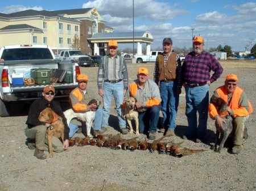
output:
<path id="1" fill-rule="evenodd" d="M 31 78 L 35 79 L 35 84 L 49 84 L 51 69 L 38 68 L 31 69 Z"/>

